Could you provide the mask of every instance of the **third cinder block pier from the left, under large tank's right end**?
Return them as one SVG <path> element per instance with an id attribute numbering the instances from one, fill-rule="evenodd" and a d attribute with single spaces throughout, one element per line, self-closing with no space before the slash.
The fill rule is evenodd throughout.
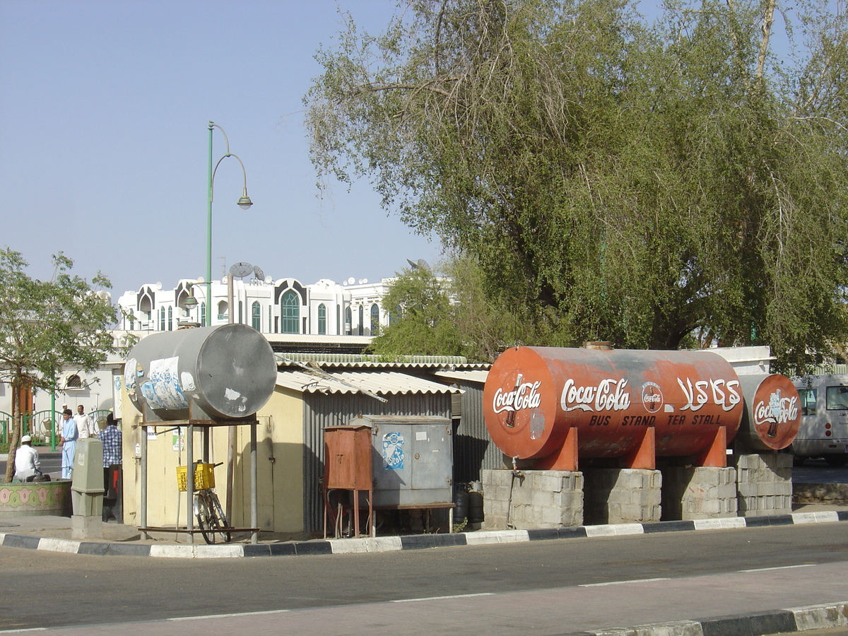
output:
<path id="1" fill-rule="evenodd" d="M 733 467 L 673 466 L 662 481 L 662 521 L 737 516 Z"/>

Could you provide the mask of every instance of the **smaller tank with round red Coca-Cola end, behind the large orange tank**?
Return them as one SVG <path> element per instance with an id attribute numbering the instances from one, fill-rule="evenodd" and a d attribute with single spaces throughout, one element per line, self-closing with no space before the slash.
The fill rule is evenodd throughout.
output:
<path id="1" fill-rule="evenodd" d="M 745 412 L 736 441 L 750 450 L 789 447 L 801 428 L 801 397 L 788 377 L 740 376 Z"/>

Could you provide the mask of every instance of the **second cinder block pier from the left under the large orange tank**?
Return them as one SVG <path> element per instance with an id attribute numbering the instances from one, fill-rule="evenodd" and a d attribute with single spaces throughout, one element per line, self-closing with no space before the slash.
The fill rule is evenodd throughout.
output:
<path id="1" fill-rule="evenodd" d="M 589 468 L 583 476 L 583 522 L 587 525 L 660 521 L 660 471 Z"/>

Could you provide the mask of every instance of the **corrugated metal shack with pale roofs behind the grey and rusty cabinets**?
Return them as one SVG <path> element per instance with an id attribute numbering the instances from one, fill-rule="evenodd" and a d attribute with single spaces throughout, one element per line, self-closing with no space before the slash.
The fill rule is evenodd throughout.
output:
<path id="1" fill-rule="evenodd" d="M 277 391 L 302 404 L 303 526 L 322 527 L 324 429 L 360 415 L 443 416 L 454 421 L 454 481 L 477 481 L 502 465 L 483 422 L 488 365 L 464 358 L 412 356 L 383 362 L 353 354 L 277 354 Z M 386 399 L 375 399 L 377 395 Z"/>

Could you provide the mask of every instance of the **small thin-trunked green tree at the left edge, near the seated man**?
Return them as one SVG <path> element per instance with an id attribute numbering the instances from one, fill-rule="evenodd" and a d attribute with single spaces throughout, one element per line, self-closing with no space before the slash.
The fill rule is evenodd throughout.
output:
<path id="1" fill-rule="evenodd" d="M 20 388 L 51 390 L 64 366 L 94 371 L 113 350 L 106 327 L 114 323 L 115 311 L 100 291 L 110 287 L 109 280 L 98 274 L 90 286 L 71 276 L 74 263 L 61 252 L 53 265 L 53 280 L 38 281 L 26 274 L 19 252 L 0 249 L 0 382 L 13 395 L 7 482 L 20 444 L 23 405 L 15 399 Z"/>

